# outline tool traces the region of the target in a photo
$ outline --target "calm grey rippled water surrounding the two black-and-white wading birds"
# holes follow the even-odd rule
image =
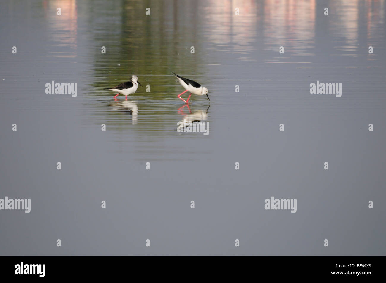
[[[31,211],[0,210],[0,255],[386,255],[385,9],[1,1],[0,198]],[[210,101],[185,105],[171,72]],[[142,87],[114,100],[131,75]],[[310,94],[317,81],[342,96]],[[207,136],[177,132],[194,115]],[[264,209],[272,196],[296,213]]]

